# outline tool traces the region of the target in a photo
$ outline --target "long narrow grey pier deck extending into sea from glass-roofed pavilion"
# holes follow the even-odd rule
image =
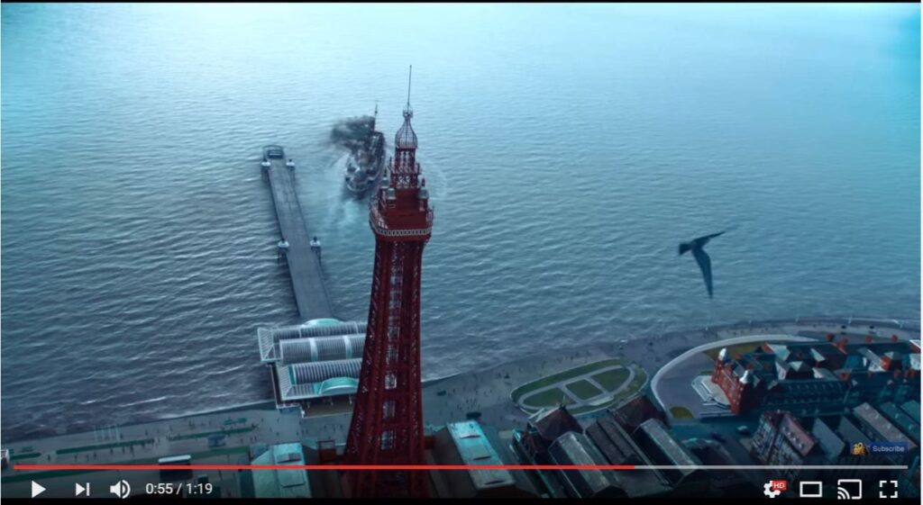
[[[333,317],[327,288],[320,272],[318,255],[311,251],[305,217],[294,191],[294,177],[285,166],[285,158],[269,159],[268,172],[272,201],[279,219],[279,231],[289,242],[287,262],[292,276],[298,313],[304,320]]]

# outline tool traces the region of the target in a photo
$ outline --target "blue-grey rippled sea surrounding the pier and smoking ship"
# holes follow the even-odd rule
[[[6,441],[267,399],[297,319],[260,147],[335,311],[374,239],[338,120],[414,65],[424,375],[798,315],[919,317],[920,6],[7,5]],[[677,243],[708,246],[709,299]]]

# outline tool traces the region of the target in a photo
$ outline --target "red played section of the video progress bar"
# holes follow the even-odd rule
[[[14,470],[634,470],[634,464],[14,464]]]

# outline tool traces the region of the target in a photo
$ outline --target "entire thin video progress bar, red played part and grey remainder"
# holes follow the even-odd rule
[[[906,464],[15,464],[14,470],[906,470]]]

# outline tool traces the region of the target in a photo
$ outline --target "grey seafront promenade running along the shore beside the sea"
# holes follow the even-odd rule
[[[844,327],[845,326],[845,327]],[[874,328],[869,328],[874,326]],[[799,318],[789,321],[737,323],[709,329],[693,329],[665,335],[652,335],[623,343],[624,335],[604,335],[595,346],[545,349],[543,352],[485,370],[426,382],[424,417],[426,426],[436,429],[446,422],[463,419],[469,412],[480,413],[484,424],[501,431],[523,426],[527,415],[509,397],[518,386],[562,370],[604,358],[623,358],[640,364],[650,377],[665,363],[690,348],[720,343],[747,335],[799,335],[822,338],[827,333],[859,338],[869,335],[897,335],[918,339],[919,323],[893,320],[848,318]],[[426,372],[426,367],[424,368]],[[303,440],[345,441],[350,413],[303,418],[297,413],[282,413],[272,402],[240,407],[233,411],[203,413],[119,427],[118,440],[99,440],[92,431],[23,440],[8,444],[13,464],[112,464],[156,463],[162,456],[191,454],[195,464],[247,464],[250,444]],[[586,419],[588,417],[584,417]],[[223,433],[225,444],[209,447],[209,435]],[[28,457],[18,458],[26,455]],[[222,487],[222,496],[237,496],[236,472],[206,471],[210,482]],[[29,496],[31,480],[48,488],[43,496],[73,496],[75,482],[107,490],[115,481],[126,478],[134,487],[156,482],[156,472],[75,472],[10,471],[3,481],[10,496]],[[152,480],[153,479],[153,480]],[[94,487],[95,489],[96,487]],[[105,496],[105,495],[102,495]]]

